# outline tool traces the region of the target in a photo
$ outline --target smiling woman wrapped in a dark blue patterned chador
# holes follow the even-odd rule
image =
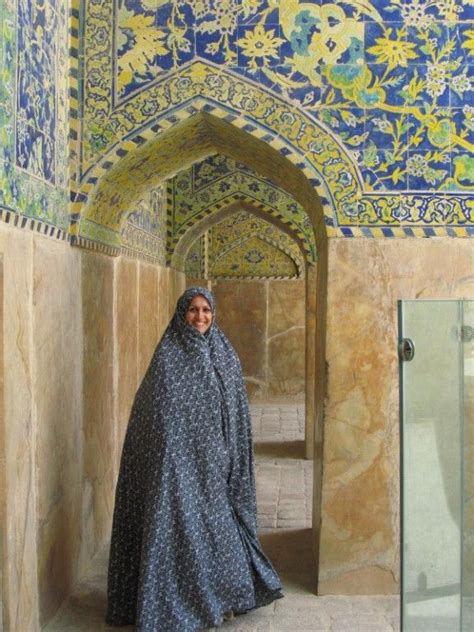
[[[282,596],[257,537],[252,436],[212,292],[186,290],[135,396],[116,490],[107,622],[196,632]]]

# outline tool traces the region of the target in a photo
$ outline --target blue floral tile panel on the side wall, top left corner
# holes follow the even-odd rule
[[[68,3],[4,2],[0,37],[0,209],[61,235],[68,216]],[[51,230],[49,230],[51,227]],[[34,228],[33,228],[34,227]]]

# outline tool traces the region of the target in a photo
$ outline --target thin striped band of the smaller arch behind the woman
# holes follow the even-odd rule
[[[222,220],[234,215],[237,211],[247,211],[256,217],[265,220],[266,222],[273,224],[283,233],[292,238],[292,240],[298,245],[300,252],[306,261],[313,261],[310,246],[304,238],[304,235],[296,230],[296,227],[286,223],[283,218],[277,213],[275,209],[266,207],[263,205],[257,205],[255,200],[251,198],[246,199],[242,196],[241,199],[231,201],[229,204],[221,206],[219,208],[209,207],[206,209],[205,214],[201,214],[201,217],[193,218],[193,223],[187,225],[185,232],[182,232],[177,241],[172,244],[169,252],[169,261],[173,268],[179,270],[184,269],[184,262],[188,252],[193,243],[207,230],[215,226]]]

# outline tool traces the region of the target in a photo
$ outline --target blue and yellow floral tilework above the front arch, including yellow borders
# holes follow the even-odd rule
[[[85,50],[85,180],[122,138],[201,97],[314,165],[329,234],[466,234],[471,4],[89,2],[86,41],[101,45]]]

